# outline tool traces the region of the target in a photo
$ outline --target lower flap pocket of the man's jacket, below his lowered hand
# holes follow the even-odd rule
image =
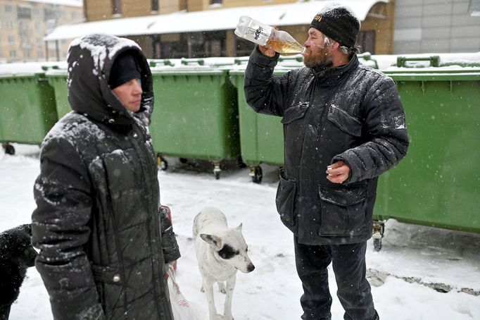
[[[365,233],[367,187],[320,186],[320,235],[354,236]]]

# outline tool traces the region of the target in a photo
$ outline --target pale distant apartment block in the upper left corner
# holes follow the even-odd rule
[[[80,1],[0,0],[0,61],[47,61],[66,56],[68,41],[46,50],[46,33],[83,19]]]

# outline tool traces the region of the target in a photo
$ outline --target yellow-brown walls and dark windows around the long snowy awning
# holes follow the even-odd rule
[[[84,11],[87,22],[95,22],[163,15],[177,11],[222,11],[222,9],[246,6],[293,5],[295,2],[294,0],[110,0],[103,3],[97,0],[84,0]],[[319,3],[315,10],[320,11],[323,5]],[[308,16],[308,19],[315,16],[317,11],[306,13],[311,16]],[[378,1],[370,8],[365,20],[362,20],[362,29],[358,40],[362,52],[393,53],[394,11],[393,1]],[[248,9],[245,14],[248,14]],[[298,39],[298,42],[303,43],[307,37],[308,25],[280,27]],[[124,36],[138,42],[146,55],[155,59],[246,56],[251,53],[254,46],[251,42],[236,37],[232,29]]]

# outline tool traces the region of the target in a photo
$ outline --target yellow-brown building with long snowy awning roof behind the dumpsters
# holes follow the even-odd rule
[[[358,11],[362,51],[393,53],[395,2],[336,0]],[[70,42],[89,32],[133,39],[148,58],[246,56],[253,44],[234,35],[242,15],[276,25],[303,43],[308,26],[331,1],[295,0],[84,0],[85,23],[64,25],[46,39]]]

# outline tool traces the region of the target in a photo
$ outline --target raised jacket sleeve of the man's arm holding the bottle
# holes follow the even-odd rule
[[[249,106],[258,113],[283,116],[288,74],[274,77],[279,54],[272,58],[253,49],[245,70],[244,91]]]

